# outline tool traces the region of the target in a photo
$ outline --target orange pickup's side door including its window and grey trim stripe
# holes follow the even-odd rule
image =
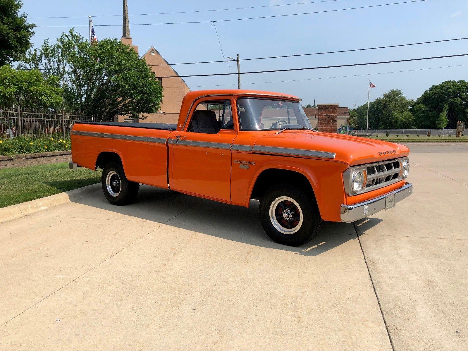
[[[205,99],[190,114],[186,130],[171,139],[171,188],[231,201],[231,145],[237,135],[231,99]]]

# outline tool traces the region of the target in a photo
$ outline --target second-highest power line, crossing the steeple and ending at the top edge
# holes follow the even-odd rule
[[[327,12],[337,12],[337,11],[347,11],[347,10],[357,10],[361,8],[371,8],[371,7],[382,7],[382,6],[390,6],[390,5],[401,5],[401,4],[409,4],[412,2],[423,2],[429,0],[411,0],[411,1],[403,1],[403,2],[392,2],[388,4],[380,4],[380,5],[369,5],[369,6],[360,6],[360,7],[348,7],[348,8],[338,8],[336,10],[323,10],[323,11],[314,11],[314,12],[303,12],[299,14],[288,14],[288,15],[271,15],[271,16],[261,16],[261,17],[245,17],[245,18],[233,18],[230,20],[212,20],[212,21],[189,21],[189,22],[165,22],[165,23],[134,23],[131,26],[153,26],[153,25],[162,25],[162,24],[193,24],[193,23],[211,23],[211,22],[232,22],[232,21],[245,21],[245,20],[256,20],[256,19],[263,19],[263,18],[276,18],[276,17],[288,17],[288,16],[298,16],[298,15],[312,15],[312,14],[322,14]],[[122,24],[96,24],[95,27],[115,27],[121,26]],[[88,25],[47,25],[47,26],[36,26],[38,27],[88,27]]]

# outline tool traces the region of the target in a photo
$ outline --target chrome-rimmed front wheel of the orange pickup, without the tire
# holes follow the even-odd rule
[[[277,197],[270,205],[270,220],[279,232],[294,234],[302,226],[302,210],[291,197]]]

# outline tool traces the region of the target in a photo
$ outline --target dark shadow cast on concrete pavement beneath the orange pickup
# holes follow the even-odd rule
[[[137,201],[132,205],[110,205],[100,189],[96,189],[93,195],[74,199],[73,202],[94,207],[94,215],[99,215],[100,218],[109,217],[109,212],[120,213],[122,219],[131,216],[226,240],[290,251],[302,256],[317,256],[347,241],[357,240],[352,223],[324,222],[319,234],[307,244],[295,248],[280,245],[271,241],[263,231],[258,218],[259,203],[255,200],[250,202],[249,208],[244,208],[176,191],[140,186]]]

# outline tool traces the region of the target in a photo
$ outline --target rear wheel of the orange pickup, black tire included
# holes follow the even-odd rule
[[[117,162],[109,162],[105,165],[101,185],[104,196],[112,205],[131,204],[138,195],[138,183],[130,182],[125,176],[124,168]]]

